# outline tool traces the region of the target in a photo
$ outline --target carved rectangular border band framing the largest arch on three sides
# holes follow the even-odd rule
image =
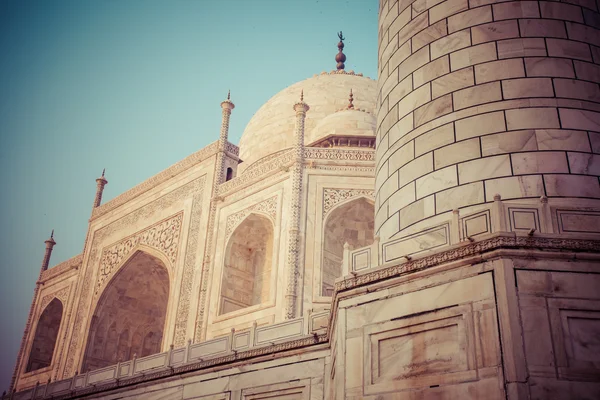
[[[75,312],[74,316],[71,339],[67,350],[68,355],[63,369],[63,377],[71,377],[73,375],[76,362],[75,357],[78,357],[80,355],[79,352],[83,349],[83,345],[85,342],[84,336],[86,332],[84,332],[84,329],[89,318],[88,310],[90,307],[94,285],[94,283],[92,282],[92,277],[94,276],[95,268],[97,268],[97,266],[100,264],[101,259],[101,252],[99,249],[100,245],[104,242],[106,238],[110,237],[115,232],[119,232],[124,227],[130,226],[138,220],[147,219],[151,217],[157,210],[166,209],[174,203],[181,201],[182,199],[193,196],[194,204],[192,205],[192,215],[190,216],[192,223],[190,224],[190,231],[188,234],[187,249],[187,252],[191,255],[189,257],[186,257],[184,264],[182,276],[182,290],[180,293],[177,308],[177,320],[175,322],[176,326],[179,327],[179,329],[176,329],[176,339],[179,340],[180,337],[185,337],[185,327],[187,326],[188,314],[186,314],[184,310],[186,310],[186,308],[189,308],[189,297],[191,290],[186,290],[184,286],[191,285],[191,282],[193,282],[194,267],[196,265],[196,252],[191,251],[191,248],[189,246],[190,244],[194,244],[194,246],[197,246],[196,242],[199,238],[198,228],[197,226],[194,227],[193,221],[198,220],[200,218],[199,214],[202,212],[202,207],[199,203],[202,199],[205,180],[206,176],[203,175],[202,177],[184,186],[181,186],[165,194],[162,197],[159,197],[153,202],[132,211],[124,217],[98,229],[97,231],[91,234],[91,246],[89,256],[86,260],[86,268],[85,271],[81,271],[81,273],[83,274],[83,278],[81,283],[81,290],[78,295],[79,304],[77,305],[77,311]],[[102,207],[103,206],[98,207],[96,210]]]

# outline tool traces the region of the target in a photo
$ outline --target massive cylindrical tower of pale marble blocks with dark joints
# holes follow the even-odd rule
[[[547,196],[598,206],[594,0],[381,0],[376,234]]]

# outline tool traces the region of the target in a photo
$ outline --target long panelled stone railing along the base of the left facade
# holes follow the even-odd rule
[[[319,338],[318,342],[326,340],[323,334],[327,331],[329,310],[309,313],[301,318],[292,319],[278,324],[257,326],[236,332],[235,329],[226,336],[207,340],[201,343],[191,343],[181,348],[169,349],[164,353],[120,362],[105,368],[75,375],[61,381],[38,384],[32,388],[3,395],[2,400],[33,400],[46,398],[69,398],[80,395],[104,385],[119,386],[138,382],[140,378],[151,378],[150,374],[168,376],[177,373],[178,367],[205,363],[217,365],[246,359],[268,353],[288,350],[306,345],[308,340]],[[319,336],[321,335],[321,336]],[[307,339],[307,341],[302,341]],[[201,369],[202,365],[198,366]],[[193,370],[195,368],[189,368]],[[132,382],[128,382],[131,380]]]

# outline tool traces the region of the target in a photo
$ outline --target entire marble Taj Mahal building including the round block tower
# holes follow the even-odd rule
[[[380,0],[377,79],[339,32],[239,144],[234,91],[205,148],[103,172],[2,399],[600,398],[598,10]]]

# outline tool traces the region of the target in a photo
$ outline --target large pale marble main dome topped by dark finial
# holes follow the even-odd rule
[[[366,112],[339,111],[348,106],[350,89],[354,94],[354,107]],[[263,157],[293,146],[296,121],[294,104],[300,100],[302,90],[304,101],[310,107],[304,126],[304,144],[309,145],[330,136],[332,133],[327,127],[333,125],[337,127],[338,134],[357,135],[359,130],[362,131],[358,135],[375,134],[373,115],[377,102],[377,82],[352,71],[322,73],[283,89],[254,114],[240,139],[240,158],[243,163],[238,167],[238,173],[243,173]],[[333,114],[338,115],[326,123],[326,117]],[[352,128],[347,132],[342,132],[343,128],[339,127],[339,117],[343,116],[350,118],[347,125]],[[322,121],[324,125],[317,128]]]

